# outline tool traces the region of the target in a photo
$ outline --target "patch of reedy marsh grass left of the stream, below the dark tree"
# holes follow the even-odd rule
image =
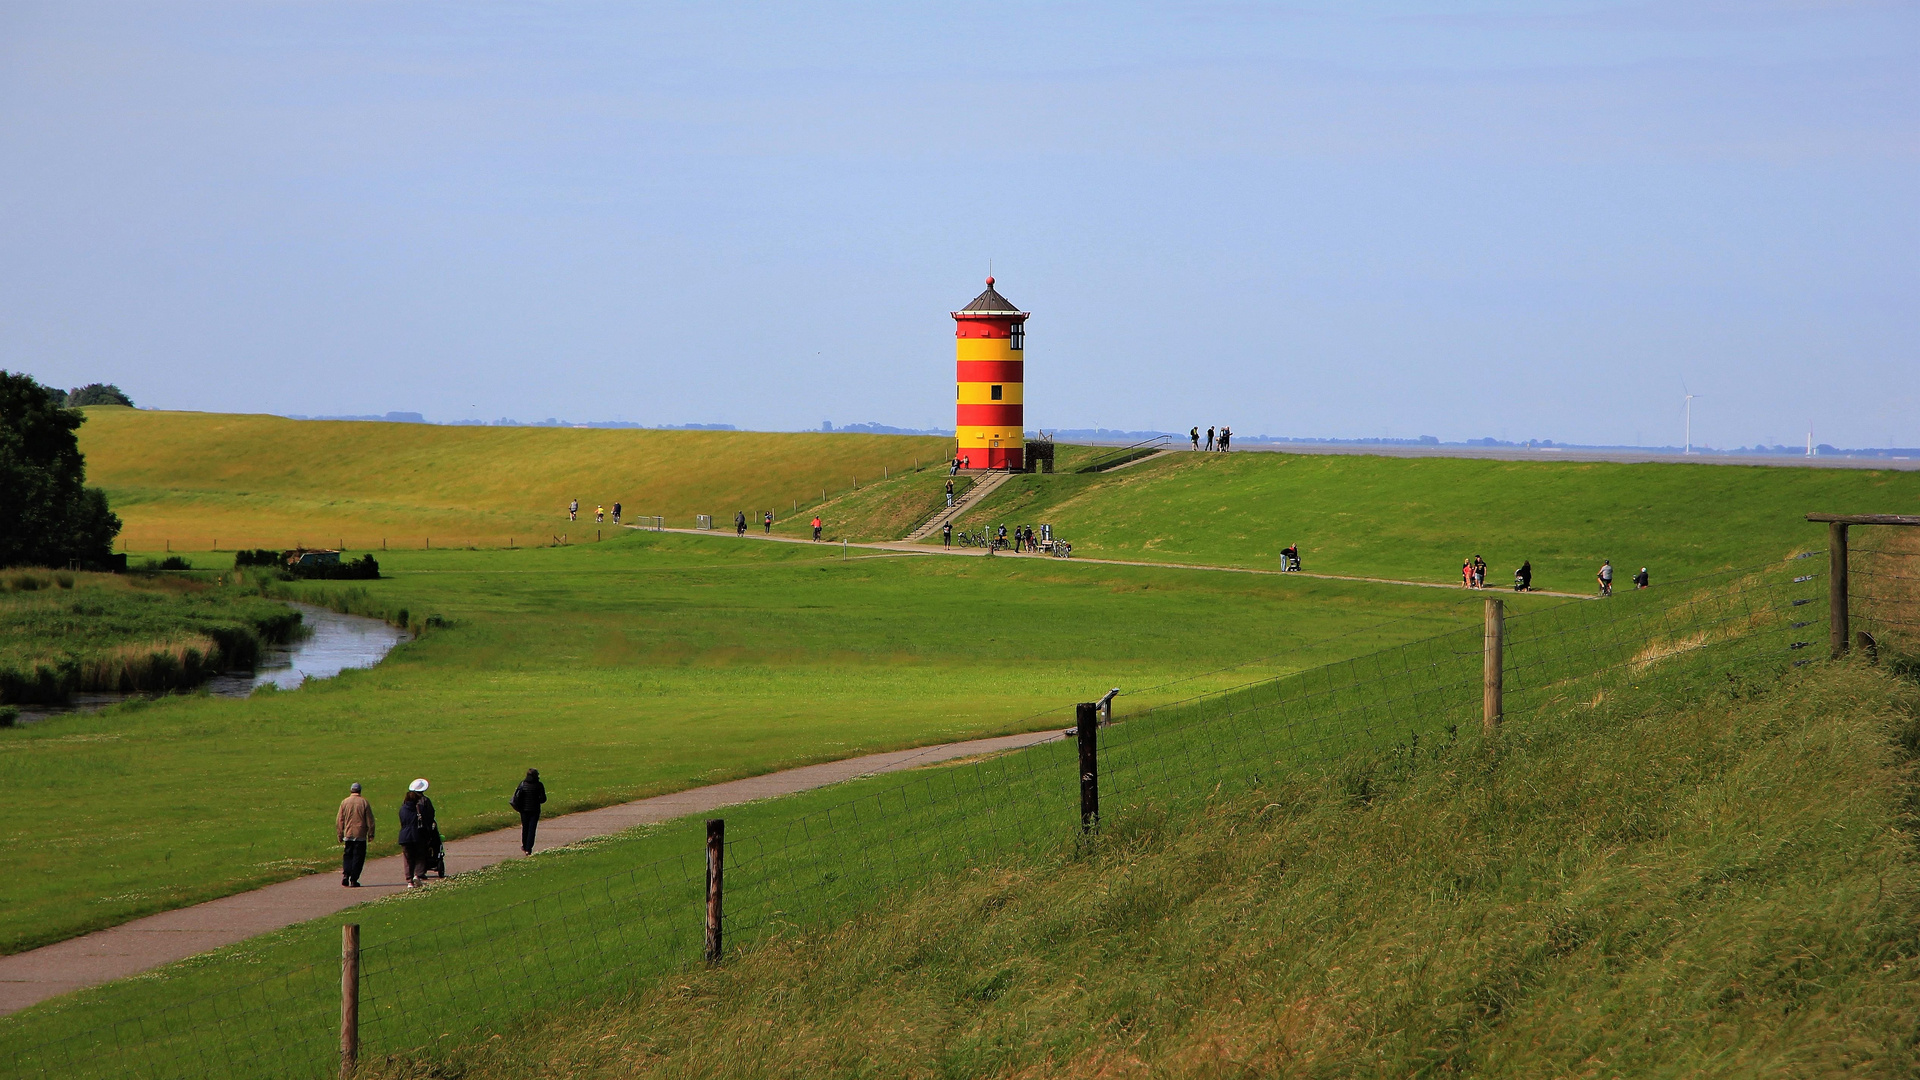
[[[205,580],[157,575],[0,575],[0,705],[77,690],[171,690],[252,667],[300,615]]]

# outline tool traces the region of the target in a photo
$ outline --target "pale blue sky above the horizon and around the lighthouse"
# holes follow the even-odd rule
[[[1912,4],[0,2],[0,367],[179,409],[1920,444]]]

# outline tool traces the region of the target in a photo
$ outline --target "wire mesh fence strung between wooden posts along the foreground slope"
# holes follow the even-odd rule
[[[1507,715],[1594,700],[1655,669],[1720,678],[1826,655],[1824,559],[1814,555],[1503,619]],[[1878,550],[1860,557],[1868,567],[1912,565],[1908,555],[1868,561],[1885,557]],[[1897,580],[1874,573],[1859,580]],[[1876,626],[1914,619],[1912,592],[1860,588],[1882,605]],[[1674,663],[1690,655],[1713,663]],[[1106,822],[1346,753],[1478,728],[1484,657],[1486,630],[1475,625],[1119,717],[1098,734]],[[737,947],[833,926],[1004,855],[1069,849],[1083,842],[1079,799],[1079,753],[1062,738],[732,807],[724,938]],[[432,897],[447,901],[438,917],[371,932],[359,953],[363,1061],[451,1057],[486,1032],[701,963],[707,863],[693,824],[609,844],[628,865],[557,890],[490,894],[484,880],[455,878],[449,896]],[[311,938],[303,961],[284,972],[186,1003],[33,1045],[0,1026],[0,1061],[12,1061],[8,1076],[334,1074],[340,965],[324,934]]]

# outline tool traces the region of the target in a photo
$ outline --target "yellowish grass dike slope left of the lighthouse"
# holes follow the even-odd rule
[[[879,434],[436,427],[86,409],[86,479],[134,552],[507,546],[593,538],[593,507],[691,527],[804,511],[948,440]],[[580,500],[580,521],[566,502]]]

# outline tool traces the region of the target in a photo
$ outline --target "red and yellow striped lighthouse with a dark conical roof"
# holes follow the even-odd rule
[[[993,290],[954,315],[954,436],[972,469],[1025,467],[1025,348],[1027,311]]]

